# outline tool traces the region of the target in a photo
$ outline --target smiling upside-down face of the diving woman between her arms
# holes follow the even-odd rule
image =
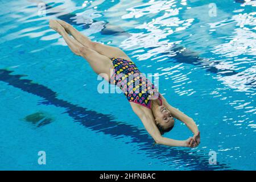
[[[156,124],[160,124],[164,129],[167,129],[174,125],[174,118],[171,112],[164,106],[159,106],[155,112]]]

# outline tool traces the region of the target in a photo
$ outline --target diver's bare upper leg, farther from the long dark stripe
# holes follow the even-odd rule
[[[88,46],[89,48],[93,49],[94,51],[97,51],[101,55],[105,55],[109,58],[111,57],[122,57],[124,59],[129,59],[129,57],[126,55],[125,52],[123,52],[118,47],[113,46],[106,46],[101,43],[92,42],[88,37],[81,34],[81,32],[77,31],[74,27],[71,26],[71,24],[64,22],[63,20],[57,20],[65,28],[65,31],[67,31],[69,34],[73,36],[78,42],[80,42],[84,46]]]

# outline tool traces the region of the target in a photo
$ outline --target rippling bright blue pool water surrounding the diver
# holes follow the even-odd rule
[[[256,1],[44,2],[45,16],[35,0],[0,1],[0,169],[255,170]],[[160,92],[199,126],[200,146],[153,146],[126,98],[97,92],[101,80],[49,19],[158,73]],[[181,122],[165,134],[191,135]]]

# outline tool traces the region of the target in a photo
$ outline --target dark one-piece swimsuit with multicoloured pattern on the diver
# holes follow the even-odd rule
[[[110,84],[117,85],[125,94],[129,102],[134,102],[151,109],[151,100],[158,98],[160,93],[142,73],[133,61],[112,57],[114,72],[110,77]]]

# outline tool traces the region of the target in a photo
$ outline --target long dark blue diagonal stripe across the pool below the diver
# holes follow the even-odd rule
[[[179,160],[182,161],[182,164],[184,165],[189,164],[189,166],[187,166],[188,169],[230,169],[227,164],[210,166],[208,163],[208,155],[190,155],[190,149],[178,150],[175,147],[166,146],[153,147],[152,138],[150,138],[146,131],[139,130],[137,126],[129,125],[125,122],[114,121],[113,115],[97,113],[96,111],[88,110],[85,107],[73,105],[68,101],[61,100],[57,98],[56,92],[46,86],[36,84],[32,80],[22,79],[22,77],[26,75],[11,75],[11,73],[13,73],[13,71],[0,69],[0,81],[6,82],[24,92],[44,98],[44,100],[41,101],[42,104],[65,108],[65,113],[72,117],[75,122],[80,122],[81,125],[96,131],[96,133],[101,132],[110,135],[115,139],[123,137],[131,138],[131,141],[126,143],[137,143],[138,150],[144,151],[150,158],[159,159],[161,162],[168,162],[172,166],[175,165],[175,163],[172,162],[173,160]],[[36,117],[38,117],[38,115],[36,115]]]

